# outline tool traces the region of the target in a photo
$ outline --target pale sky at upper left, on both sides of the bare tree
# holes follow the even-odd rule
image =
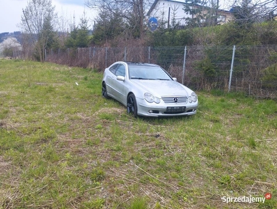
[[[0,33],[21,31],[18,24],[27,2],[28,0],[0,0]],[[63,16],[69,24],[73,22],[73,17],[78,24],[85,10],[86,18],[91,20],[89,24],[92,29],[95,12],[84,6],[84,2],[85,0],[52,0],[52,6],[55,6],[58,16]]]

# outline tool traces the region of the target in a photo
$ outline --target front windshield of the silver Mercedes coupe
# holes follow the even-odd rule
[[[159,66],[129,65],[129,79],[172,80]]]

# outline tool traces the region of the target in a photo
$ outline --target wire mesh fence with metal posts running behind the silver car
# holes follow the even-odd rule
[[[100,71],[116,61],[156,63],[196,90],[277,96],[276,45],[49,49],[45,60]]]

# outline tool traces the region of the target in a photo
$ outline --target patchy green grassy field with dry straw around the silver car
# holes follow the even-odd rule
[[[133,118],[101,79],[0,60],[1,208],[277,208],[276,101],[198,92],[195,116]]]

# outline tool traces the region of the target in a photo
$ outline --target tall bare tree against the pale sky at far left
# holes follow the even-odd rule
[[[57,14],[52,0],[29,0],[21,17],[24,33],[30,33],[40,61],[44,61],[47,42],[54,31]]]

